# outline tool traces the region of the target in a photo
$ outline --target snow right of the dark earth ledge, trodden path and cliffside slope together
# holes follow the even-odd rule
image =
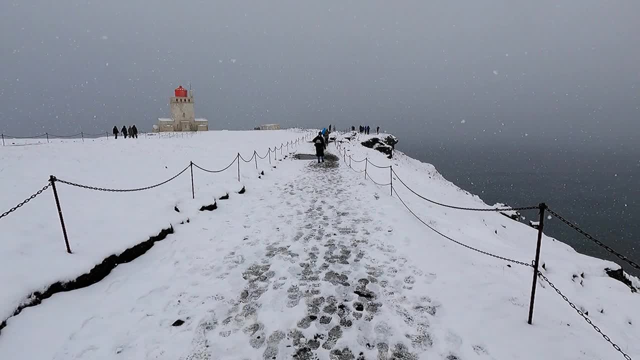
[[[305,144],[299,152],[312,151]],[[359,145],[349,152],[380,165],[393,161],[406,181],[422,184],[420,192],[486,206],[401,153],[389,161]],[[190,222],[106,279],[10,318],[0,358],[621,358],[542,283],[534,325],[527,325],[531,268],[444,240],[390,197],[388,186],[340,161],[291,154],[273,161],[277,168],[264,165],[266,175],[255,176],[243,195],[218,200],[214,211],[192,211],[208,204],[202,195],[182,203]],[[369,175],[387,182],[388,169]],[[450,236],[518,260],[532,254],[535,231],[524,224],[427,206],[398,192]],[[615,265],[546,236],[543,249],[545,274],[623,350],[640,355],[637,294],[602,274]]]

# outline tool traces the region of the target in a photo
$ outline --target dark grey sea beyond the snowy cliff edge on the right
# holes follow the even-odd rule
[[[399,140],[397,149],[435,165],[445,179],[479,195],[487,204],[503,202],[516,207],[546,202],[596,239],[640,263],[640,152],[635,145],[560,142],[543,148],[531,143],[445,146],[412,141],[411,136]],[[538,220],[537,211],[522,215],[526,217],[523,222]],[[545,218],[545,234],[582,254],[615,261],[630,274],[640,276],[557,218]]]

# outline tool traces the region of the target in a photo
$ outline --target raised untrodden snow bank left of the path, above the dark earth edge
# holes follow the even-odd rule
[[[303,131],[210,131],[184,138],[157,135],[138,139],[12,140],[25,146],[0,148],[2,211],[47,184],[50,175],[73,183],[104,188],[140,188],[175,176],[193,161],[200,167],[227,167],[236,154],[250,159],[253,150],[293,142]],[[44,140],[46,142],[46,140]],[[286,154],[286,147],[283,154]],[[291,148],[290,148],[291,149]],[[272,155],[273,156],[273,155]],[[278,151],[277,156],[280,156]],[[66,253],[51,189],[0,219],[0,322],[22,300],[56,281],[88,272],[110,254],[140,243],[196,213],[202,205],[257,180],[255,163],[219,174],[194,168],[196,200],[191,199],[189,170],[168,184],[142,192],[96,192],[57,184],[70,247]],[[260,171],[271,169],[259,160]],[[177,206],[180,213],[174,211]],[[194,210],[195,209],[195,210]]]

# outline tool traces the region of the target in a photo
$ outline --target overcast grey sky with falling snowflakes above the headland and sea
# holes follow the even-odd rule
[[[632,0],[3,4],[0,131],[149,129],[191,81],[211,129],[629,139],[638,14]]]

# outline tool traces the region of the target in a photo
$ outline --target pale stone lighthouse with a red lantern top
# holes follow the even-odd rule
[[[207,131],[209,121],[196,119],[193,92],[178,86],[169,97],[170,119],[158,119],[159,131]]]

